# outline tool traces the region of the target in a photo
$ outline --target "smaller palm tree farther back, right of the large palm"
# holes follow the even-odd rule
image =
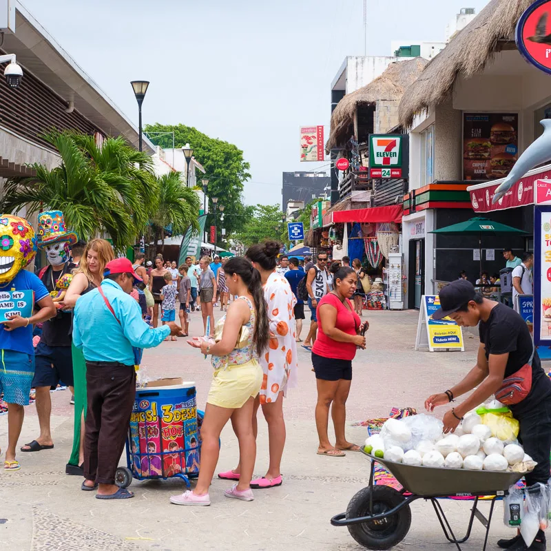
[[[154,257],[159,239],[165,247],[165,228],[171,227],[175,236],[184,235],[187,229],[199,231],[198,212],[200,201],[196,192],[182,182],[180,172],[163,174],[157,178],[158,206],[152,216],[153,247],[150,256]]]

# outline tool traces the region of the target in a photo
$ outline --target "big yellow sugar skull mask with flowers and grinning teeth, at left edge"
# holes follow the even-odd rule
[[[34,229],[24,218],[0,218],[0,283],[10,282],[37,254]]]

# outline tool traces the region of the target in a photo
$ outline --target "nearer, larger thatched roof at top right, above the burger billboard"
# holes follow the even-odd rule
[[[514,28],[532,1],[491,0],[408,87],[399,105],[400,124],[409,128],[415,114],[446,101],[459,75],[469,79],[484,70],[503,41],[514,40]]]

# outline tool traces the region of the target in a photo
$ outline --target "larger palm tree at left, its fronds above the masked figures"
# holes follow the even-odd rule
[[[101,149],[92,148],[92,136],[52,130],[44,138],[59,151],[61,164],[50,170],[35,163],[37,176],[8,180],[2,211],[61,210],[83,240],[108,233],[117,251],[133,245],[158,204],[147,156],[121,138],[106,138]]]

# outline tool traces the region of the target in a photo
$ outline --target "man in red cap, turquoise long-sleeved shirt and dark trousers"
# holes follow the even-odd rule
[[[98,499],[127,499],[115,486],[136,394],[136,349],[158,346],[181,331],[174,322],[152,329],[130,295],[141,282],[127,258],[108,262],[98,289],[83,295],[74,309],[73,342],[86,360],[88,415],[85,422],[82,490],[98,488]]]

